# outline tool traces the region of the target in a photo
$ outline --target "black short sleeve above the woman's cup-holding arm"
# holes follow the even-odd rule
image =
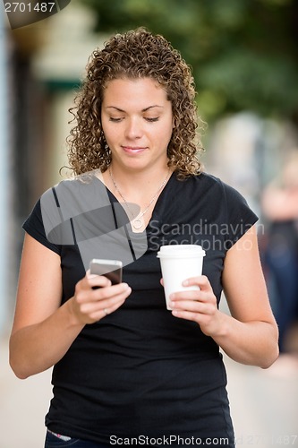
[[[259,220],[247,201],[232,186],[222,183],[225,192],[227,228],[226,248],[229,249]]]

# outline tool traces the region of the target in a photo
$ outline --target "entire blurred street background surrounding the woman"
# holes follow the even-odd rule
[[[297,23],[295,0],[72,0],[11,30],[0,4],[0,448],[43,445],[51,395],[50,372],[21,382],[7,362],[21,224],[67,175],[59,168],[67,164],[68,109],[89,55],[115,31],[138,26],[163,34],[192,65],[207,123],[205,168],[260,216],[282,356],[268,371],[226,359],[238,446],[298,446]]]

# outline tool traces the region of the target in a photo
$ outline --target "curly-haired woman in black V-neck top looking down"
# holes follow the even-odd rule
[[[10,342],[20,378],[54,366],[47,448],[234,447],[219,348],[263,368],[277,358],[257,217],[233,188],[201,172],[194,96],[180,54],[147,30],[115,35],[89,61],[69,154],[74,173],[88,175],[43,195],[24,224]],[[106,219],[105,194],[113,213],[122,203],[130,221],[100,229],[106,246],[85,231]],[[69,232],[53,237],[58,216]],[[113,238],[122,228],[127,239],[123,230],[117,241],[128,242],[134,257],[124,261],[124,281],[111,285],[91,276],[88,262],[117,258]],[[204,275],[186,280],[200,289],[175,293],[170,312],[157,252],[185,243],[206,250]],[[218,310],[222,289],[231,316]]]

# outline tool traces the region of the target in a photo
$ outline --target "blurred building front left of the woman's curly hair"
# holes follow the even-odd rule
[[[0,335],[10,331],[22,222],[61,180],[74,90],[102,38],[75,0],[62,12],[11,30],[0,7]]]

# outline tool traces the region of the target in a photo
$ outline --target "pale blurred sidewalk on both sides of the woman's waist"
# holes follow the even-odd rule
[[[42,448],[51,373],[17,379],[8,366],[7,340],[0,340],[0,363],[0,448]],[[298,447],[298,370],[273,375],[227,358],[226,368],[237,447]]]

